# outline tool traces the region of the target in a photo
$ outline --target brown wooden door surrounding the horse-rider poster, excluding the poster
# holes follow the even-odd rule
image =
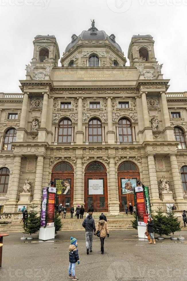
[[[124,170],[125,169],[125,170]],[[130,170],[131,169],[131,170]],[[139,179],[140,174],[137,166],[131,162],[123,162],[118,167],[118,193],[120,201],[120,212],[125,212],[125,204],[130,206],[135,205],[134,203],[134,193],[123,194],[122,192],[122,179]]]

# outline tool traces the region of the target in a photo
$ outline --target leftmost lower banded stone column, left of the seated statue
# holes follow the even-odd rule
[[[20,171],[21,171],[21,161],[22,156],[17,155],[14,157],[14,167],[12,172],[12,181],[10,186],[10,194],[9,194],[9,200],[7,201],[10,204],[16,204],[17,203],[17,195],[18,195],[18,188],[19,188],[19,181],[20,181]]]

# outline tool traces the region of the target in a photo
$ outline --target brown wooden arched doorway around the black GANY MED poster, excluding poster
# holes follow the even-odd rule
[[[54,166],[52,170],[51,179],[54,181],[54,187],[56,186],[57,179],[63,179],[65,183],[69,183],[69,190],[66,194],[57,194],[58,204],[66,205],[67,210],[73,205],[73,183],[74,183],[74,170],[70,163],[60,162]]]

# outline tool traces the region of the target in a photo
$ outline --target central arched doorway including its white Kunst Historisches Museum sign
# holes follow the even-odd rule
[[[92,203],[94,212],[108,212],[106,167],[97,161],[89,163],[84,176],[85,209]]]

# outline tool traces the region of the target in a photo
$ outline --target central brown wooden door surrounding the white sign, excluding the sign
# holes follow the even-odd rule
[[[102,169],[96,171],[94,169]],[[84,180],[85,210],[87,211],[92,203],[94,212],[108,212],[108,190],[106,168],[99,162],[92,162],[86,167]],[[103,194],[89,194],[89,180],[100,179],[103,182]]]

